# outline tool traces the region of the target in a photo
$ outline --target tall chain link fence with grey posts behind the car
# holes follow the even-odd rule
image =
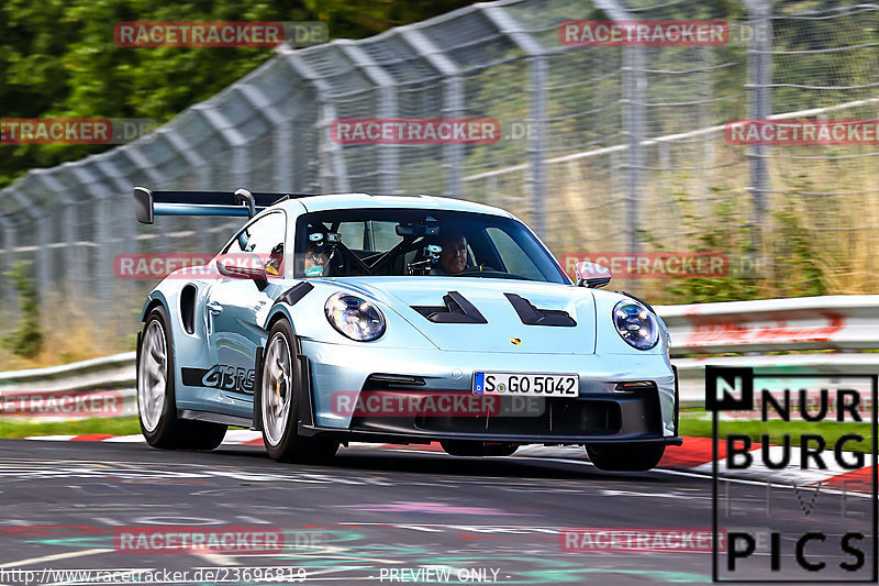
[[[565,21],[608,19],[723,20],[730,35],[717,46],[559,41]],[[363,41],[279,48],[148,136],[30,172],[0,191],[0,269],[30,261],[44,307],[77,308],[108,331],[131,331],[154,283],[116,278],[118,254],[213,252],[238,225],[140,225],[132,188],[246,187],[465,198],[512,211],[559,255],[754,253],[774,259],[764,277],[869,290],[879,147],[736,146],[723,125],[879,119],[877,88],[879,4],[479,3]],[[492,118],[502,132],[479,145],[331,140],[334,120],[376,117]],[[15,308],[3,279],[0,311]]]

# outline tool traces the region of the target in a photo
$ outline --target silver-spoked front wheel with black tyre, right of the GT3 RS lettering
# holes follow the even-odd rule
[[[299,345],[286,320],[271,328],[263,360],[259,409],[263,416],[263,443],[268,455],[279,462],[324,462],[338,451],[338,442],[299,435],[297,398],[302,388],[296,367]]]

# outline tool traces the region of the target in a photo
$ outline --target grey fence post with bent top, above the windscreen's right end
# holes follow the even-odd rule
[[[531,225],[538,236],[546,236],[546,49],[499,5],[477,4],[498,31],[527,56],[528,117],[535,131],[528,133],[528,186],[531,187]]]

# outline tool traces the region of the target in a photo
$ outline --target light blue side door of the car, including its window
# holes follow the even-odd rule
[[[268,311],[283,287],[287,217],[272,211],[245,226],[224,251],[227,258],[247,266],[266,265],[266,283],[218,275],[208,292],[205,310],[211,323],[210,345],[214,356],[214,383],[227,399],[252,400],[256,378],[256,349],[265,345]],[[232,401],[230,405],[235,405]]]

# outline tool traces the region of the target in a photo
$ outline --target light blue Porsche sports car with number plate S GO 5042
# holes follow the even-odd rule
[[[351,441],[453,455],[585,445],[648,469],[679,445],[677,377],[653,309],[572,283],[514,215],[429,196],[134,190],[137,219],[247,219],[147,296],[137,405],[149,445],[211,450],[229,425],[271,457]]]

